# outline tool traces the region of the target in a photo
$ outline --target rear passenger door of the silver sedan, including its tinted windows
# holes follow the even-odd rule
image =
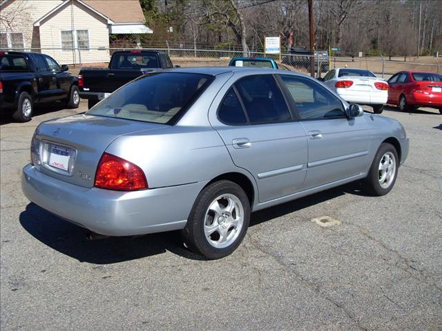
[[[233,86],[226,84],[219,95],[211,124],[233,163],[256,180],[258,200],[300,190],[307,172],[307,138],[273,75],[242,77]]]

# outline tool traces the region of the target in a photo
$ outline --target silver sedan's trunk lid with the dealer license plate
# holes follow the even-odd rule
[[[99,159],[112,141],[124,134],[167,127],[87,114],[44,122],[35,134],[41,142],[38,168],[50,177],[92,188]]]

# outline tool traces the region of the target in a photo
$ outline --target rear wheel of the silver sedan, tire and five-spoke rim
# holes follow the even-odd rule
[[[244,190],[231,181],[216,181],[198,195],[182,239],[207,259],[231,254],[249,228],[250,202]]]

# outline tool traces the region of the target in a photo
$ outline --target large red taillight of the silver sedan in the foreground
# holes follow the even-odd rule
[[[94,185],[97,188],[118,191],[146,190],[148,188],[146,177],[140,167],[106,152],[99,160]]]

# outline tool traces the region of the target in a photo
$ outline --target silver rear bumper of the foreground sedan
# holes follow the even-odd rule
[[[23,168],[21,188],[41,208],[88,230],[128,236],[179,230],[206,182],[133,192],[83,188]]]

